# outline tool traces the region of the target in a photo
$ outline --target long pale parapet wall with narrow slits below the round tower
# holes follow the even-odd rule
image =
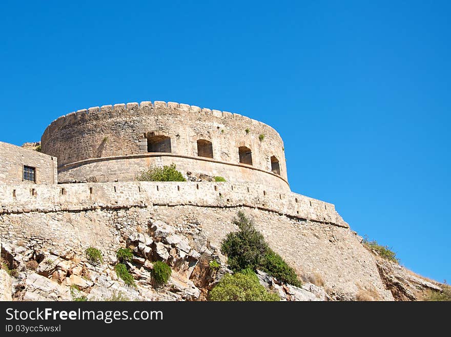
[[[80,211],[155,205],[247,206],[299,219],[348,227],[333,204],[261,185],[208,182],[121,182],[36,186],[0,185],[0,213]]]

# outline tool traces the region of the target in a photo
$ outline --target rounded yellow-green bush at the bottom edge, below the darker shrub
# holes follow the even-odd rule
[[[227,274],[210,291],[210,301],[279,301],[279,295],[267,291],[257,275],[245,269],[233,275]]]

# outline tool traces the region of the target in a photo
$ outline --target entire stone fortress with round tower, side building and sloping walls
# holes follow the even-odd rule
[[[57,118],[40,146],[0,142],[3,242],[65,251],[95,244],[111,256],[123,242],[118,222],[139,226],[152,216],[199,224],[219,245],[242,209],[299,275],[320,273],[343,299],[370,288],[393,299],[335,206],[290,190],[282,138],[268,125],[172,102],[116,104]],[[172,163],[187,182],[135,179]]]

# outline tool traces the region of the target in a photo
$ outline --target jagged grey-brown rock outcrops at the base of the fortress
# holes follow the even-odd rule
[[[103,262],[90,261],[82,251],[41,250],[38,240],[3,244],[3,269],[0,298],[15,301],[203,301],[221,276],[231,273],[220,262],[213,246],[198,227],[180,231],[159,220],[150,220],[147,228],[138,227],[126,235],[124,245],[133,252],[125,262],[134,286],[127,285],[115,272],[115,255],[103,256]],[[119,240],[119,238],[118,238]],[[211,267],[210,261],[219,267]],[[155,261],[172,269],[165,285],[156,285],[152,277]],[[11,276],[6,272],[8,271]],[[258,271],[260,283],[276,292],[284,301],[326,301],[330,296],[311,283],[302,288],[282,284]]]

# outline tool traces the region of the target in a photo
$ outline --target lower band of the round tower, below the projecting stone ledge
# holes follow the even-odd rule
[[[134,181],[137,173],[151,165],[176,164],[177,170],[188,178],[209,172],[211,176],[222,176],[234,183],[254,183],[289,191],[290,186],[280,175],[243,164],[219,162],[211,158],[180,156],[173,153],[145,153],[121,157],[107,157],[67,164],[59,168],[58,181],[111,182]]]

